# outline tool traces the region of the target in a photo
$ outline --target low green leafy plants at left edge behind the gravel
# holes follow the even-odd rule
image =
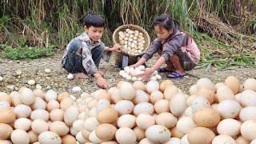
[[[49,57],[54,55],[56,46],[48,46],[38,48],[38,46],[18,46],[12,47],[7,44],[0,45],[0,58],[9,58],[9,59],[24,59],[24,58],[41,58]]]

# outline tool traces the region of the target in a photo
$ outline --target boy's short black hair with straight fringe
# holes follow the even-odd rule
[[[99,14],[90,13],[86,15],[83,25],[87,28],[89,28],[90,26],[105,28],[105,20]]]

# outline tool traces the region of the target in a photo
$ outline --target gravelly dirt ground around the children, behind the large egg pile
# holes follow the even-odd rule
[[[42,90],[56,90],[58,93],[62,91],[71,91],[74,86],[80,86],[83,92],[93,92],[98,90],[94,78],[90,79],[79,79],[74,78],[68,80],[66,78],[67,72],[62,69],[61,63],[62,54],[55,54],[52,58],[38,58],[34,60],[26,59],[20,61],[11,61],[8,59],[0,59],[0,75],[3,77],[3,81],[0,82],[0,92],[10,93],[13,90],[18,90],[22,86],[30,87],[32,90],[36,88],[36,85],[42,86]],[[152,66],[156,58],[151,59],[147,62],[147,66]],[[49,68],[50,74],[46,74],[44,70]],[[197,68],[197,67],[196,67]],[[22,74],[15,76],[15,72],[21,70]],[[101,62],[100,70],[104,72],[104,77],[110,86],[116,86],[116,83],[122,78],[118,75],[120,70],[114,64],[114,58],[112,57],[110,62]],[[195,69],[190,70],[189,74],[193,74],[198,78],[210,78],[214,83],[224,82],[225,78],[234,75],[238,77],[242,82],[246,78],[255,78],[256,73],[253,68],[239,68],[235,70],[217,71],[214,68],[207,69]],[[188,76],[186,78],[180,78],[178,80],[172,80],[175,86],[180,89],[189,90],[190,86],[197,82],[198,78]],[[33,79],[36,84],[29,86],[27,81]],[[166,75],[162,74],[162,80],[166,79]],[[162,81],[161,80],[161,81]],[[160,81],[160,82],[161,82]]]

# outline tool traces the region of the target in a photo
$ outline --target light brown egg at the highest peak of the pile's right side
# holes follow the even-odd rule
[[[224,83],[226,86],[230,87],[234,94],[238,94],[240,88],[240,82],[238,78],[235,76],[229,76],[225,79]]]

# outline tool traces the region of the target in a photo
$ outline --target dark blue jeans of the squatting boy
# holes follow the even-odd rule
[[[91,50],[92,58],[94,60],[94,64],[99,66],[99,62],[101,62],[102,52],[105,49],[104,44],[102,43],[99,46],[94,47]],[[69,73],[85,73],[86,70],[82,66],[82,43],[79,40],[74,40],[70,42],[70,48],[66,54],[66,62],[63,66]]]

